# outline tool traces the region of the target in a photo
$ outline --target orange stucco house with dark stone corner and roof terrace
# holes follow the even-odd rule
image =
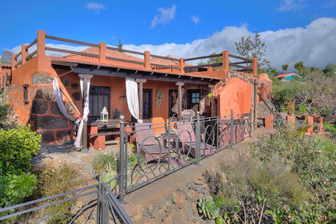
[[[46,41],[50,39],[87,45],[87,49],[79,52],[50,48],[46,46]],[[46,52],[50,51],[65,55],[48,56]],[[222,57],[222,63],[201,66],[188,64],[193,60],[218,56]],[[243,61],[229,63],[229,58]],[[241,65],[246,63],[251,63],[251,67]],[[218,66],[222,69],[212,69]],[[229,70],[229,66],[237,69]],[[103,42],[75,41],[38,31],[37,38],[31,44],[22,45],[21,52],[12,55],[8,102],[20,122],[30,123],[42,135],[44,142],[69,143],[75,139],[76,128],[73,121],[60,113],[51,83],[54,77],[58,77],[62,100],[74,119],[81,119],[83,111],[80,78],[83,78],[83,89],[90,80],[88,122],[100,119],[102,107],[108,109],[111,119],[122,114],[125,120],[131,121],[125,96],[125,78],[135,78],[139,88],[139,118],[155,124],[171,119],[174,94],[177,95],[176,100],[181,102],[181,110],[197,110],[203,115],[227,115],[224,113],[231,109],[235,113],[248,113],[250,109],[255,111],[256,66],[256,59],[245,59],[228,51],[218,55],[176,59],[170,55],[163,57],[149,51],[118,49]],[[182,88],[186,92],[183,98],[180,97]],[[164,95],[161,104],[156,107],[158,90]],[[208,99],[210,92],[213,96]],[[209,101],[211,110],[207,108]],[[175,117],[180,118],[180,114]],[[84,136],[87,135],[85,129]]]

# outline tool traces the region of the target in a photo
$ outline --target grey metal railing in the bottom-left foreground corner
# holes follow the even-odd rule
[[[67,217],[69,224],[77,223],[77,219],[83,212],[87,209],[94,207],[93,209],[96,211],[95,221],[97,224],[108,224],[110,220],[114,223],[125,223],[132,224],[133,221],[126,213],[121,203],[118,200],[118,196],[121,193],[118,191],[117,187],[112,187],[115,191],[114,193],[111,190],[111,182],[116,182],[120,178],[120,175],[117,175],[113,179],[111,179],[107,183],[94,184],[91,186],[83,187],[80,189],[52,195],[49,197],[40,198],[33,201],[28,201],[25,203],[17,204],[15,206],[10,206],[7,208],[0,209],[0,214],[5,212],[12,212],[9,215],[5,215],[0,217],[0,221],[5,221],[8,218],[20,216],[20,215],[28,215],[32,212],[37,212],[38,210],[57,206],[63,202],[82,199],[83,206],[76,212],[73,216],[65,215],[65,214],[51,214],[43,218],[39,218],[36,221],[36,224],[42,223],[45,220],[51,219],[53,217]]]

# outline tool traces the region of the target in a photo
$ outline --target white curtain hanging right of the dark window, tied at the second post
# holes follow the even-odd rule
[[[138,123],[142,123],[139,119],[138,84],[134,78],[126,78],[126,96],[129,112]]]

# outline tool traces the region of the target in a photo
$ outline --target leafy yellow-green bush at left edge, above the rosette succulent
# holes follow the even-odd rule
[[[30,129],[20,125],[17,129],[0,129],[0,184],[11,175],[28,172],[31,158],[37,155],[42,138]]]

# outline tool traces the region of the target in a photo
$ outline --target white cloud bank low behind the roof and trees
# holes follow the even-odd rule
[[[279,71],[281,71],[282,64],[289,64],[289,72],[294,71],[293,66],[298,61],[303,61],[306,66],[318,68],[324,68],[327,63],[336,63],[336,18],[318,18],[305,27],[264,31],[259,34],[267,45],[266,58],[270,61],[270,65]],[[249,35],[252,36],[253,33],[248,30],[247,25],[231,26],[224,27],[209,37],[196,39],[190,43],[142,44],[140,46],[124,44],[123,48],[141,52],[149,50],[152,54],[163,56],[170,54],[175,58],[204,56],[222,50],[229,50],[231,54],[237,55],[235,41],[240,41],[242,36]],[[75,51],[87,48],[65,44],[47,44],[47,46]],[[35,49],[31,47],[30,50]],[[12,50],[14,53],[18,53],[20,46]],[[47,52],[47,54],[64,55],[58,52]],[[141,55],[135,56],[142,58]],[[205,59],[203,61],[206,62]],[[195,64],[196,62],[191,61],[190,63]]]

